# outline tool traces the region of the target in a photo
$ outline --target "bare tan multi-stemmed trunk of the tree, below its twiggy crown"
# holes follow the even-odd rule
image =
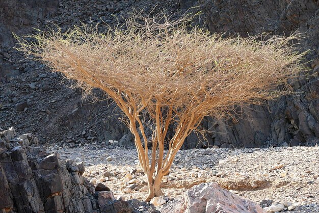
[[[102,87],[102,85],[99,86]],[[176,116],[173,116],[173,108],[171,106],[161,105],[161,101],[156,100],[153,112],[155,129],[153,129],[152,151],[149,157],[147,136],[144,131],[143,122],[140,119],[140,113],[147,107],[147,101],[151,101],[150,98],[146,102],[142,99],[143,106],[138,109],[134,98],[129,94],[126,94],[125,99],[123,99],[121,91],[115,93],[105,87],[102,87],[102,89],[114,98],[118,107],[128,118],[129,129],[135,137],[139,162],[144,174],[147,176],[149,195],[145,201],[150,201],[153,197],[163,195],[161,190],[162,179],[168,174],[177,151],[181,148],[185,138],[190,134],[192,129],[197,127],[196,125],[198,125],[197,123],[201,117],[195,117],[194,113],[183,114],[183,116],[178,117],[179,121],[177,122],[175,134],[169,141],[168,153],[164,156],[164,141],[169,125],[174,121]],[[142,143],[143,141],[144,143]],[[155,170],[156,165],[157,168]]]

